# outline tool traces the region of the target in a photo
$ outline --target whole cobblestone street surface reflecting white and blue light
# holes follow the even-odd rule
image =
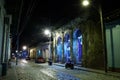
[[[2,80],[120,80],[118,76],[65,69],[55,64],[52,66],[47,63],[36,64],[34,61],[26,60],[19,60],[18,65],[13,62],[12,68],[14,68],[15,75],[4,77]]]

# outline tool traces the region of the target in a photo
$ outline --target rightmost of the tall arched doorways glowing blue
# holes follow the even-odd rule
[[[82,61],[82,34],[79,29],[73,33],[73,55],[76,64],[81,64]]]

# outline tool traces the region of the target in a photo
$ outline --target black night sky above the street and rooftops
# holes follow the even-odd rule
[[[11,33],[15,43],[22,0],[5,1],[8,13],[13,15]],[[93,4],[97,1],[92,0]],[[119,8],[118,4],[118,0],[102,0],[103,15]],[[23,0],[19,25],[20,44],[47,41],[43,34],[44,29],[64,25],[81,16],[84,16],[81,0]]]

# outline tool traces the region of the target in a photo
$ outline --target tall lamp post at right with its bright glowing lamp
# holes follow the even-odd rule
[[[90,2],[88,0],[83,0],[83,2],[82,2],[83,6],[88,6],[89,3]],[[100,24],[101,24],[101,31],[102,31],[103,54],[104,54],[104,66],[105,66],[105,72],[107,72],[107,53],[106,53],[105,28],[103,26],[103,16],[102,16],[101,3],[99,3],[97,11],[98,11],[99,16],[100,16]]]

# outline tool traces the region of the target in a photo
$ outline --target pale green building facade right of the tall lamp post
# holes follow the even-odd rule
[[[120,19],[105,24],[108,69],[120,72]]]

